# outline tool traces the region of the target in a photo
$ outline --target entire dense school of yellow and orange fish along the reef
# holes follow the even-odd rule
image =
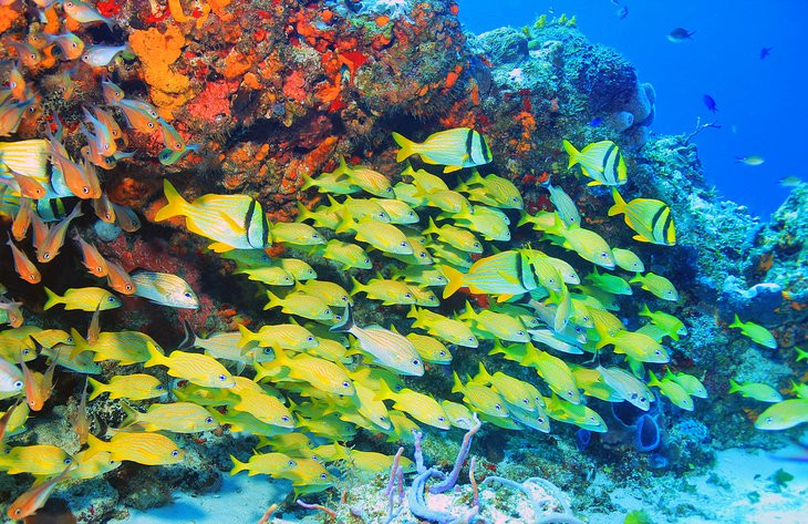
[[[60,9],[80,23],[111,23],[80,0],[62,2]],[[69,32],[41,41],[61,50],[63,61],[93,68],[131,52],[127,45],[85,47]],[[37,65],[40,50],[29,42],[14,47],[20,63],[9,71],[9,89],[0,91],[0,136],[13,135],[39,103],[23,72]],[[584,228],[574,202],[549,179],[545,188],[555,210],[528,214],[509,179],[483,174],[491,151],[479,132],[465,127],[434,133],[421,143],[394,133],[397,161],[406,161],[394,175],[339,158],[335,171],[305,177],[303,189],[325,199],[312,209],[299,204],[296,223],[270,222],[249,195],[190,199],[165,179],[166,203],[155,222],[182,217],[188,232],[210,240],[211,251],[236,264],[234,278],[260,288],[267,318],[281,320],[205,337],[186,326],[185,340],[170,349],[145,332],[103,331],[103,311],[133,297],[154,307],[199,307],[196,291],[179,276],[127,270],[121,260],[102,256],[86,234],[89,215],[130,235],[139,229],[136,213],[102,191],[97,171],[112,169],[132,154],[122,150],[126,133],[115,115],[124,116],[128,132],[162,131],[165,148],[158,160],[164,165],[198,145],[186,144],[149,103],[126,99],[108,79],[101,85],[104,104],[83,110],[86,145],[79,162],[63,145],[58,115],[43,138],[0,143],[7,259],[27,286],[42,288],[45,318],[58,308],[83,311],[89,326],[65,331],[25,323],[23,304],[7,297],[0,285],[0,325],[8,325],[0,331],[0,401],[6,405],[0,471],[43,480],[11,503],[9,517],[35,513],[61,482],[103,475],[122,462],[180,462],[182,435],[219,427],[259,436],[247,462],[232,458],[231,474],[286,479],[301,494],[335,485],[340,480],[329,469],[334,464],[367,472],[390,469],[392,456],[348,445],[360,430],[407,441],[422,424],[468,430],[476,414],[509,430],[547,433],[552,420],[605,432],[595,411],[605,403],[626,401],[649,410],[664,397],[690,411],[693,398],[706,398],[696,377],[645,369],[670,362],[675,342],[687,335],[684,323],[643,305],[639,317],[648,321],[633,321],[640,327],[632,330],[621,312],[636,309],[632,299],[621,297],[633,298],[640,290],[648,299],[677,301],[674,285],[646,271],[633,250],[610,246]],[[579,151],[563,141],[562,146],[570,169],[579,166],[589,185],[611,187],[609,216],[624,215],[635,240],[675,244],[666,204],[626,202],[618,192],[628,168],[617,144],[603,141]],[[412,157],[439,166],[438,174],[416,169]],[[526,226],[532,242],[511,246],[512,233]],[[73,248],[65,248],[68,239]],[[273,246],[299,255],[271,257],[267,249]],[[43,277],[44,265],[75,255],[75,266],[83,266],[96,286],[69,287],[66,271],[55,280]],[[318,278],[328,266],[343,274],[341,281]],[[446,300],[457,294],[465,300],[452,312]],[[390,318],[397,321],[367,320],[369,305],[393,308]],[[749,323],[736,319],[731,328],[776,347],[770,333]],[[480,351],[500,360],[477,362],[473,355]],[[32,363],[38,359],[40,366]],[[450,399],[424,392],[425,371],[448,369],[453,359],[474,360],[476,373],[453,371]],[[487,369],[503,360],[519,364],[512,373],[518,377]],[[104,378],[104,362],[128,372]],[[44,372],[32,369],[40,367]],[[174,380],[164,383],[149,373],[155,368]],[[35,424],[52,401],[53,384],[63,373],[84,376],[70,421],[77,446],[14,444],[14,436]],[[733,387],[776,400],[753,386]],[[87,415],[87,404],[101,395],[118,402],[125,413],[120,427],[104,433]],[[804,421],[805,400],[779,399],[775,407],[791,401],[797,408],[784,407],[760,424],[779,429]],[[401,460],[405,472],[414,470]]]

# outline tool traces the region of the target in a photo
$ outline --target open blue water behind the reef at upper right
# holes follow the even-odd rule
[[[628,8],[624,19],[618,17]],[[808,122],[805,35],[808,3],[800,0],[463,0],[465,28],[479,33],[503,25],[522,27],[536,17],[577,16],[592,41],[620,51],[638,69],[641,82],[656,90],[657,134],[681,134],[702,122],[722,127],[698,134],[707,179],[727,198],[766,218],[788,195],[786,176],[805,178],[796,154]],[[672,43],[674,28],[695,31],[693,40]],[[773,48],[760,60],[760,50]],[[703,102],[709,94],[718,111]],[[735,157],[759,155],[760,166]]]

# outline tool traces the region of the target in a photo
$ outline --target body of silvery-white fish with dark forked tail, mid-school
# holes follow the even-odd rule
[[[406,337],[381,326],[354,326],[349,332],[359,339],[363,351],[373,356],[385,368],[410,377],[424,374],[424,363],[415,346]]]

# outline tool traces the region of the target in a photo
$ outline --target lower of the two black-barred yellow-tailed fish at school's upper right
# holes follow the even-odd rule
[[[676,244],[676,228],[667,204],[653,198],[634,198],[626,204],[613,187],[612,197],[614,205],[609,208],[609,216],[625,214],[625,224],[636,232],[634,240],[662,246]]]

